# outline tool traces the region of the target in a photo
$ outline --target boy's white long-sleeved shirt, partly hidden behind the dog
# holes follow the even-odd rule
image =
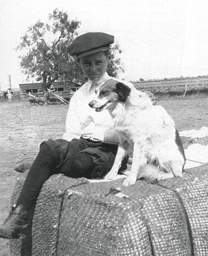
[[[136,90],[133,84],[110,77],[107,73],[96,82],[97,85],[108,79],[118,80]],[[63,139],[71,141],[73,138],[90,138],[94,141],[101,141],[111,144],[118,144],[118,135],[114,132],[113,121],[108,110],[96,112],[88,106],[93,99],[95,86],[88,80],[79,90],[75,92],[70,100],[69,111],[66,120],[66,133]]]

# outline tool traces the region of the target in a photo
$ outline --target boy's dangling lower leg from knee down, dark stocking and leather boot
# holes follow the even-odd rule
[[[43,145],[31,167],[31,174],[25,180],[16,205],[12,207],[12,211],[0,227],[1,238],[18,238],[27,227],[28,210],[35,202],[41,185],[47,180],[53,160],[53,152],[47,144]]]

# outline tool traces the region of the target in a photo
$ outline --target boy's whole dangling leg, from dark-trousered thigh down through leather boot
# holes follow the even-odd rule
[[[60,172],[66,155],[83,150],[87,145],[83,141],[67,142],[62,139],[49,140],[41,144],[40,152],[25,179],[17,204],[0,227],[1,238],[18,238],[27,227],[27,213],[36,202],[44,182],[53,174]]]

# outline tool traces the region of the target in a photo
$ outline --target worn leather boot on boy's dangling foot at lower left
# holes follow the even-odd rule
[[[13,208],[0,226],[0,238],[20,238],[22,231],[28,226],[27,213],[27,208],[22,204]]]

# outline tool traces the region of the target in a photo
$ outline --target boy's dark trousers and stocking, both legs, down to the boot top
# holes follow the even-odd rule
[[[115,160],[118,145],[91,141],[90,139],[49,139],[40,146],[23,188],[17,205],[28,209],[36,202],[44,182],[53,174],[63,173],[72,178],[85,177],[100,179],[108,173]],[[127,158],[122,162],[120,171],[126,169]]]

